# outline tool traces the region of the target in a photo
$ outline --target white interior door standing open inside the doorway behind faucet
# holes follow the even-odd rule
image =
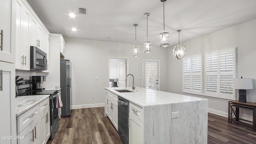
[[[119,87],[126,87],[126,59],[121,59],[119,62]]]

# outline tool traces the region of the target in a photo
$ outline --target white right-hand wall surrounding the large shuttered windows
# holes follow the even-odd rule
[[[247,90],[247,101],[256,102],[256,19],[183,42],[186,56],[236,47],[236,77],[252,78],[253,90]],[[182,39],[182,38],[181,38]],[[182,60],[172,56],[174,46],[168,48],[168,92],[182,94]],[[236,91],[236,100],[238,100]],[[186,93],[184,93],[186,94]],[[190,94],[186,94],[190,95]],[[208,99],[209,112],[228,115],[228,100],[193,95]],[[242,116],[252,118],[251,111],[242,111]]]

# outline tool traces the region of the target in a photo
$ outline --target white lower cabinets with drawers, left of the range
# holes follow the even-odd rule
[[[18,144],[46,144],[51,135],[49,98],[18,116],[17,130],[22,137]]]

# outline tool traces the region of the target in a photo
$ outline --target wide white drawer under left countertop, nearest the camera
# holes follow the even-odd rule
[[[39,105],[30,108],[24,114],[17,117],[17,133],[22,132],[36,117],[39,116]]]

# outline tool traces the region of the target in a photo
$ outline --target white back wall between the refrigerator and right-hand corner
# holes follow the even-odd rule
[[[142,87],[142,59],[160,60],[161,90],[167,91],[167,49],[152,47],[144,54],[138,46],[139,57],[132,57],[134,44],[67,38],[66,56],[72,62],[73,108],[98,106],[104,103],[104,87],[109,86],[108,58],[128,58],[129,73],[134,75],[135,86]],[[98,77],[98,80],[95,80]],[[130,83],[132,77],[130,77]],[[130,85],[131,86],[131,85]],[[92,99],[95,96],[95,99]]]

